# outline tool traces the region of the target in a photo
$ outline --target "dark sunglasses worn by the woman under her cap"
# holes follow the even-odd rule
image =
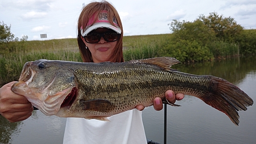
[[[83,38],[88,43],[97,43],[100,41],[101,37],[103,37],[105,41],[113,42],[113,41],[117,41],[120,38],[120,35],[121,34],[118,34],[114,31],[104,32],[104,33],[91,32],[87,36],[84,36]]]

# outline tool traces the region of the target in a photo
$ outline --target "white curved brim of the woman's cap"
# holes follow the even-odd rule
[[[87,36],[87,34],[89,34],[91,31],[98,29],[98,28],[108,28],[111,29],[115,32],[117,32],[118,34],[121,34],[121,29],[116,26],[112,26],[109,22],[98,22],[98,23],[94,23],[93,26],[89,27],[86,31],[83,32],[83,30],[81,29],[81,35],[82,36]]]

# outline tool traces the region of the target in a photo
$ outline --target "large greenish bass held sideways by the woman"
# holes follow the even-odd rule
[[[253,101],[237,86],[214,76],[171,69],[175,58],[159,57],[122,63],[81,63],[58,60],[27,62],[12,91],[24,95],[46,115],[108,120],[106,117],[151,106],[172,89],[193,95],[224,112],[238,125],[238,110]]]

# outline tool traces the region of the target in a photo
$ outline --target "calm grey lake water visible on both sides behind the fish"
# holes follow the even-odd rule
[[[215,62],[178,64],[172,68],[196,75],[224,78],[245,91],[256,102],[256,58],[232,58]],[[239,111],[240,124],[235,126],[224,113],[200,99],[185,95],[176,102],[181,107],[167,106],[167,143],[255,143],[256,106]],[[143,110],[146,137],[164,142],[163,110]],[[0,143],[62,143],[66,118],[45,116],[34,111],[23,122],[9,123],[0,116]]]

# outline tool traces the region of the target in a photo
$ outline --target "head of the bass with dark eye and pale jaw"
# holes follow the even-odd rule
[[[61,61],[41,59],[24,65],[12,91],[24,95],[44,114],[55,115],[75,88],[75,76],[67,66]]]

